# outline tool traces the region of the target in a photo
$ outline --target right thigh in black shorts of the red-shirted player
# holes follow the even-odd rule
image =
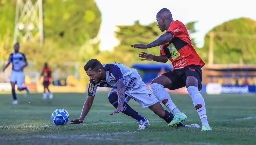
[[[202,89],[202,69],[198,65],[189,65],[186,67],[186,86],[198,87],[200,91]]]

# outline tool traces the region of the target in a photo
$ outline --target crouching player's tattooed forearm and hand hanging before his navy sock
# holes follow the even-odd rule
[[[116,88],[117,88],[117,95],[118,95],[118,107],[116,108],[116,110],[109,114],[109,115],[113,115],[119,112],[123,112],[124,108],[124,98],[125,98],[125,87],[124,87],[124,79],[121,78],[118,81],[116,81]]]

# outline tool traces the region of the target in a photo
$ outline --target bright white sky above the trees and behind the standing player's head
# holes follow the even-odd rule
[[[116,25],[133,25],[136,20],[142,25],[147,25],[156,21],[156,14],[162,8],[168,8],[173,19],[184,24],[198,21],[196,23],[198,32],[190,35],[196,39],[198,47],[204,45],[204,37],[209,30],[225,21],[239,17],[256,20],[256,2],[252,0],[95,0],[95,2],[102,13],[99,33],[101,50],[112,50],[118,45],[118,40],[114,36]]]

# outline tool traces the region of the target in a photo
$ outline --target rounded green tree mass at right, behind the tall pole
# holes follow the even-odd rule
[[[209,33],[215,32],[214,63],[256,63],[256,21],[239,18],[225,22],[210,30],[200,53],[209,53]],[[203,58],[207,63],[208,58]]]

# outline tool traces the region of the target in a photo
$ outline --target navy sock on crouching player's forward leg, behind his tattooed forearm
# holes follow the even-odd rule
[[[109,102],[115,107],[117,108],[117,105],[118,105],[118,95],[115,94],[115,93],[112,93],[109,95]],[[143,122],[146,121],[144,119],[143,116],[141,116],[138,112],[136,112],[135,110],[133,110],[131,108],[130,105],[128,105],[127,103],[124,102],[124,111],[122,113],[124,113],[125,115],[128,115],[128,116],[131,116],[132,118],[140,121],[142,120]]]

